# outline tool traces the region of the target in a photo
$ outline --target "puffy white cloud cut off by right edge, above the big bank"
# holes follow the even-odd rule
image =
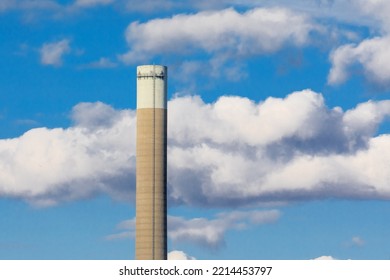
[[[390,85],[390,37],[366,39],[358,45],[348,44],[331,54],[332,68],[328,76],[330,84],[345,82],[354,66],[361,66],[364,76],[379,85]],[[356,70],[355,70],[356,72]]]

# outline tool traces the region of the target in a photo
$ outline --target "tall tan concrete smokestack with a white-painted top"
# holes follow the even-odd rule
[[[167,67],[137,67],[138,260],[167,259]]]

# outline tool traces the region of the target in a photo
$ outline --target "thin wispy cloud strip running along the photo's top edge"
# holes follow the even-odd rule
[[[390,4],[387,0],[74,0],[63,4],[55,0],[2,0],[0,12],[19,10],[24,12],[51,11],[58,15],[69,15],[69,12],[80,11],[96,6],[114,5],[117,10],[128,12],[158,13],[161,11],[187,12],[210,11],[229,7],[237,9],[264,9],[284,7],[310,18],[331,19],[355,26],[368,26],[371,29],[387,32],[390,30]],[[330,23],[328,23],[330,24]]]

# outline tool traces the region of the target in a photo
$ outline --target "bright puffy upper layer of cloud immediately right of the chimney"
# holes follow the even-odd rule
[[[292,93],[285,99],[269,97],[258,104],[235,96],[222,96],[214,104],[205,104],[194,96],[173,99],[169,105],[170,119],[175,120],[170,135],[187,145],[208,140],[267,145],[292,136],[303,140],[319,133],[316,130],[326,121],[341,117],[338,109],[328,111],[323,97],[310,90]],[[303,123],[309,126],[302,127]]]

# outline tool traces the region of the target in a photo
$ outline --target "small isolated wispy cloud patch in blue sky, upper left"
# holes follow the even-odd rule
[[[62,57],[69,53],[70,50],[70,41],[68,39],[45,43],[40,49],[41,63],[44,65],[61,66]]]

